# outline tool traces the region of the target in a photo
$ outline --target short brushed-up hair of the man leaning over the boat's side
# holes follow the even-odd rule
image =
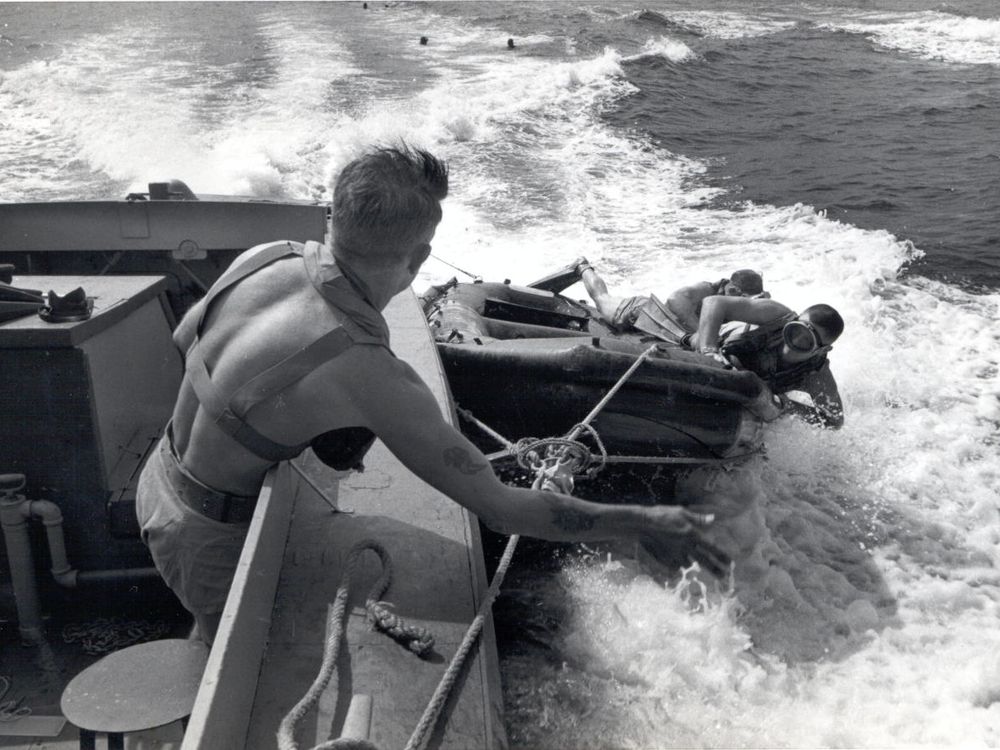
[[[392,262],[408,240],[441,221],[448,166],[423,149],[378,147],[341,170],[333,190],[338,253]]]

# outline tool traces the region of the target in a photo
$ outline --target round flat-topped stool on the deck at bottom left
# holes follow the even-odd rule
[[[80,729],[81,750],[94,750],[98,732],[109,750],[125,747],[125,734],[181,719],[194,707],[208,647],[180,638],[151,641],[108,654],[70,680],[63,715]]]

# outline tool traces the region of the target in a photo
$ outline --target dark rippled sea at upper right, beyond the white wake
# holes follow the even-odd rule
[[[824,15],[817,21],[800,11],[780,31],[738,45],[677,30],[700,64],[644,57],[624,66],[639,92],[611,117],[709,161],[726,200],[804,203],[837,221],[886,229],[924,251],[912,272],[995,289],[996,40],[978,60],[967,47],[975,34],[954,50],[961,62],[933,48],[899,55],[872,44],[873,35],[902,45],[919,31],[930,47],[948,28],[946,17],[936,27],[933,19],[872,14],[845,24],[833,11]],[[642,20],[669,27],[659,13]]]

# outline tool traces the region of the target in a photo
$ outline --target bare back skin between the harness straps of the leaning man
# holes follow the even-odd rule
[[[184,351],[193,340],[198,312],[192,311],[175,334]],[[293,255],[248,276],[214,300],[203,323],[201,346],[212,380],[221,393],[229,394],[338,324],[310,284],[302,259]],[[384,354],[391,359],[387,351]],[[247,420],[284,445],[306,443],[327,430],[360,425],[355,407],[364,391],[352,386],[363,381],[358,371],[361,364],[347,350],[254,406]],[[273,463],[253,455],[213,424],[199,409],[188,379],[174,409],[173,431],[174,447],[185,466],[222,492],[255,494]]]

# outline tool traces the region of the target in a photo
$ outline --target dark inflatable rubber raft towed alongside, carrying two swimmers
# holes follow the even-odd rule
[[[779,409],[757,375],[616,332],[594,307],[540,285],[452,280],[421,298],[455,401],[487,434],[569,433],[652,346],[591,423],[610,457],[724,462],[759,450]]]

